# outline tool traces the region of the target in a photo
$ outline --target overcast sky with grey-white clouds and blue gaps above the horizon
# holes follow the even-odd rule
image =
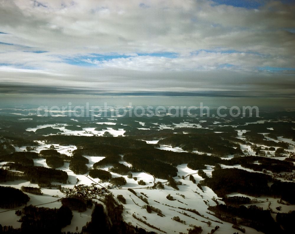
[[[292,2],[2,0],[0,93],[294,97]]]

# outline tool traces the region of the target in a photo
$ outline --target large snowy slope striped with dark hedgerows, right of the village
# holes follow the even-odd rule
[[[177,168],[178,168],[179,176],[182,176],[182,175],[187,176],[189,174],[196,173],[196,171],[187,168],[186,164],[178,165]],[[210,169],[208,171],[210,171]],[[202,178],[198,176],[198,174],[193,174],[193,176],[195,177],[197,183],[199,182],[199,180],[202,180]],[[137,206],[134,202],[136,202],[140,206],[145,205],[145,203],[142,202],[139,198],[137,198],[134,194],[124,189],[124,187],[123,189],[112,189],[111,192],[113,193],[115,197],[117,196],[117,194],[122,194],[124,198],[126,199],[127,204],[124,205],[124,212],[123,212],[124,221],[131,222],[132,225],[135,225],[135,226],[140,224],[142,227],[148,230],[153,230],[149,228],[148,226],[142,224],[141,222],[135,220],[132,217],[132,214],[134,213],[137,217],[142,218],[143,220],[145,220],[143,218],[143,216],[145,216],[147,218],[146,221],[148,223],[154,225],[155,227],[160,228],[163,231],[166,231],[167,233],[174,233],[174,231],[178,233],[179,232],[187,233],[186,229],[189,228],[189,224],[201,226],[203,228],[204,233],[210,232],[212,227],[214,227],[215,225],[220,226],[218,233],[227,234],[227,233],[234,233],[236,231],[235,229],[232,229],[232,224],[227,222],[223,222],[223,224],[220,224],[220,223],[216,223],[212,221],[212,227],[208,227],[207,223],[201,222],[201,220],[205,222],[208,221],[207,218],[205,217],[209,217],[212,220],[217,220],[216,217],[206,213],[208,211],[207,210],[208,206],[204,203],[204,200],[208,200],[207,202],[208,204],[214,205],[215,202],[212,201],[211,198],[213,196],[217,198],[217,195],[211,189],[207,187],[203,187],[204,192],[202,192],[199,188],[197,188],[196,184],[193,184],[191,181],[189,181],[189,176],[187,176],[184,180],[177,179],[177,178],[176,180],[179,180],[182,182],[182,184],[186,184],[186,185],[178,185],[179,190],[174,190],[173,188],[167,185],[164,185],[165,187],[164,190],[148,189],[148,188],[146,189],[133,188],[138,196],[141,195],[140,192],[143,192],[144,194],[146,194],[148,197],[149,204],[151,206],[157,207],[160,210],[162,210],[162,213],[163,215],[165,215],[165,217],[159,217],[158,215],[155,214],[155,212],[152,212],[151,214],[149,214],[145,211],[145,209],[142,209],[141,207]],[[200,195],[196,194],[195,192],[199,192],[200,195],[203,196],[203,198]],[[173,196],[174,199],[176,200],[169,201],[168,199],[166,199],[166,196],[168,194],[171,194],[171,196]],[[185,198],[177,194],[183,194]],[[134,202],[132,201],[132,199],[134,200]],[[177,200],[183,202],[184,204],[178,202]],[[160,202],[160,204],[158,202]],[[168,204],[173,207],[166,206],[165,204]],[[174,208],[174,207],[196,209],[197,211],[200,212],[201,215],[204,215],[204,217],[198,216],[189,211],[185,211],[192,217],[199,220],[197,221],[191,217],[181,214],[182,210],[178,208]],[[186,221],[186,225],[172,220],[174,216],[179,216],[181,220]],[[247,233],[258,233],[256,230],[252,228],[245,227],[245,229]],[[156,231],[156,232],[161,233],[159,231]]]

